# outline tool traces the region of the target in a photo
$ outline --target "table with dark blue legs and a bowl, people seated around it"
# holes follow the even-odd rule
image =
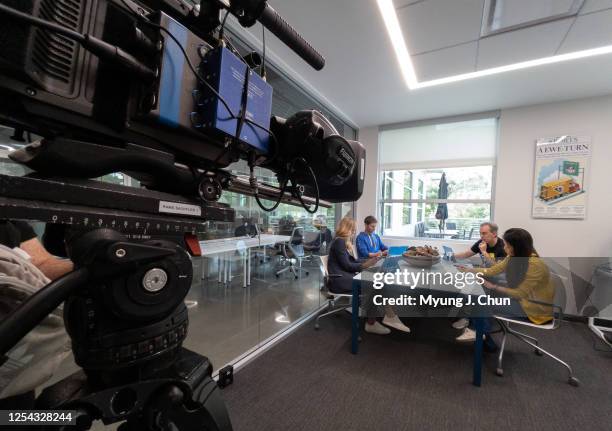
[[[363,293],[363,288],[371,289],[373,288],[374,282],[374,274],[380,272],[395,272],[396,268],[399,268],[400,271],[408,271],[419,273],[423,272],[424,274],[428,273],[442,273],[442,274],[456,274],[458,269],[449,261],[441,260],[440,263],[433,265],[431,268],[424,269],[410,266],[406,261],[401,259],[400,257],[390,257],[386,259],[397,259],[397,266],[392,267],[391,271],[389,268],[385,268],[385,259],[379,261],[374,267],[368,268],[363,272],[357,274],[353,278],[353,291],[352,291],[352,316],[351,316],[351,352],[353,354],[357,354],[359,352],[359,337],[361,331],[361,321],[359,316],[359,307],[360,307],[360,297]],[[415,274],[416,275],[416,274]],[[472,301],[477,303],[477,296],[485,295],[483,287],[476,283],[465,283],[465,286],[461,289],[448,284],[441,284],[437,282],[432,282],[428,277],[423,276],[423,280],[421,283],[417,283],[414,285],[414,289],[411,289],[410,285],[403,284],[394,280],[393,283],[385,283],[385,287],[378,292],[382,293],[385,291],[385,296],[388,295],[388,292],[395,291],[401,292],[401,294],[408,294],[411,296],[418,295],[432,295],[436,298],[457,298],[462,297],[464,302],[468,301],[468,297],[472,297]],[[474,327],[476,330],[476,340],[474,342],[474,361],[473,361],[473,373],[472,373],[472,383],[475,386],[480,386],[482,382],[482,353],[483,353],[483,335],[484,335],[484,319],[483,317],[485,313],[483,312],[482,306],[470,306],[469,314],[461,314],[456,317],[472,317],[474,322]],[[450,317],[450,316],[449,316]],[[449,319],[450,325],[450,319]]]

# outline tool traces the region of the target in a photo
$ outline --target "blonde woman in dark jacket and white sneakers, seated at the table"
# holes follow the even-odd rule
[[[353,277],[364,269],[374,266],[380,259],[379,257],[361,260],[355,258],[353,239],[356,232],[355,220],[350,217],[344,217],[340,220],[336,230],[336,238],[331,243],[327,260],[327,272],[340,275],[340,277],[330,278],[329,290],[333,293],[351,293]],[[378,323],[374,307],[368,307],[367,316],[366,332],[379,335],[386,335],[391,332],[389,328]],[[385,317],[382,323],[399,331],[410,332],[410,328],[401,322],[391,307],[385,307]]]

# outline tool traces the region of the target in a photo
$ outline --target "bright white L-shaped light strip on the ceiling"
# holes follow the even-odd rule
[[[498,73],[511,72],[513,70],[527,69],[545,64],[560,63],[562,61],[577,60],[579,58],[594,57],[612,53],[612,45],[602,46],[600,48],[586,49],[584,51],[570,52],[568,54],[554,55],[551,57],[538,58],[535,60],[523,61],[520,63],[509,64],[507,66],[493,67],[490,69],[479,70],[476,72],[462,73],[460,75],[448,76],[446,78],[433,79],[431,81],[418,82],[412,59],[406,42],[402,35],[397,13],[393,6],[393,0],[377,0],[378,7],[387,26],[387,32],[395,48],[397,60],[404,74],[404,79],[408,88],[416,90],[418,88],[434,87],[436,85],[450,84],[452,82],[465,81],[466,79],[480,78],[483,76],[495,75]]]

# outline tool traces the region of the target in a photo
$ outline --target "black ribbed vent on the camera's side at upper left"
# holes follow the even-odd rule
[[[62,27],[79,31],[81,2],[78,0],[42,0],[39,16]],[[37,30],[32,61],[41,75],[66,84],[74,80],[77,43],[58,34]]]

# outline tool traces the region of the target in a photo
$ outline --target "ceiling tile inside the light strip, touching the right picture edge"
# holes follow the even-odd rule
[[[612,45],[612,10],[579,16],[559,54]]]

